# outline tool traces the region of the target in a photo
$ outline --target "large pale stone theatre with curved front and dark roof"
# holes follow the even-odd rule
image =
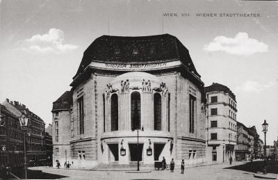
[[[176,37],[103,35],[71,86],[74,165],[204,162],[204,83]]]

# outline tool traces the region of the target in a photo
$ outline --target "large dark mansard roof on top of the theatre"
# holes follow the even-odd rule
[[[136,53],[137,52],[137,53]],[[188,49],[173,35],[123,37],[102,35],[84,51],[81,64],[74,78],[92,61],[105,63],[161,63],[181,60],[199,76]]]

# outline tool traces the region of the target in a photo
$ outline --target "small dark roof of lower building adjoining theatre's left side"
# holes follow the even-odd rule
[[[72,107],[72,92],[66,91],[54,103],[52,111],[69,110]]]

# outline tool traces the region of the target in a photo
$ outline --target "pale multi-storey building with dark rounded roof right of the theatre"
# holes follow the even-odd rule
[[[236,96],[227,86],[213,83],[206,92],[206,159],[229,161],[235,158]]]

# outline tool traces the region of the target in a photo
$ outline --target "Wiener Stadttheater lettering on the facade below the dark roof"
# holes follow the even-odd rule
[[[166,66],[167,63],[151,63],[151,64],[136,64],[136,65],[105,63],[105,67],[113,67],[113,68],[120,68],[120,69],[144,69],[144,68],[166,67]]]

